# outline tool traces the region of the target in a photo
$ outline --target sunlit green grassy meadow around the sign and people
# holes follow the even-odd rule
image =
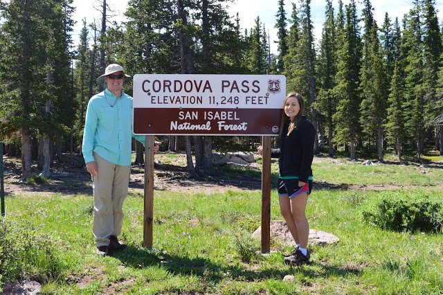
[[[175,156],[159,157],[168,163]],[[142,247],[143,190],[130,189],[121,236],[128,248],[107,257],[97,256],[93,244],[91,194],[7,195],[0,262],[17,262],[0,273],[0,283],[33,279],[44,294],[443,294],[441,229],[392,231],[363,217],[392,192],[443,201],[443,157],[428,157],[373,166],[316,157],[317,189],[307,217],[311,229],[340,241],[309,245],[311,263],[299,267],[284,264],[287,245],[272,240],[271,253],[261,255],[260,240],[251,238],[260,226],[260,190],[156,190],[154,249],[148,250]],[[275,180],[276,161],[271,170]],[[271,220],[282,220],[275,189]],[[287,275],[295,280],[283,281]]]

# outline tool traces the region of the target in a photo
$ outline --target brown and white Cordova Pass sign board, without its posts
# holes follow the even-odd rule
[[[134,75],[135,134],[276,135],[284,75]]]

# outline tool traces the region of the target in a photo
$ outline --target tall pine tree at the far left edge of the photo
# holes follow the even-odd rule
[[[45,6],[43,1],[11,0],[0,3],[0,80],[6,89],[1,117],[8,129],[21,133],[21,179],[32,176],[31,136],[42,123],[39,112],[46,78]],[[42,54],[43,53],[43,54]]]

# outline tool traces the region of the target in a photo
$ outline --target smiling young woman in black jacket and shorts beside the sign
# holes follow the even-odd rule
[[[303,98],[299,93],[289,93],[284,99],[284,114],[280,126],[280,148],[271,150],[271,157],[278,161],[280,176],[278,179],[278,201],[280,212],[293,240],[296,251],[285,256],[287,263],[300,264],[309,262],[307,242],[309,224],[305,215],[307,196],[312,188],[312,159],[314,158],[314,140],[316,131],[305,116]],[[258,147],[262,154],[262,146]]]

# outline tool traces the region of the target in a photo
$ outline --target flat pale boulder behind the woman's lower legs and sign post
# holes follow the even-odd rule
[[[262,235],[262,226],[260,226],[252,234],[253,238],[260,238]],[[271,220],[271,239],[279,240],[289,246],[295,246],[291,233],[289,232],[286,222],[283,220]],[[324,244],[334,244],[338,242],[335,235],[327,233],[325,231],[318,231],[316,229],[309,229],[309,244],[314,245],[324,245]]]

